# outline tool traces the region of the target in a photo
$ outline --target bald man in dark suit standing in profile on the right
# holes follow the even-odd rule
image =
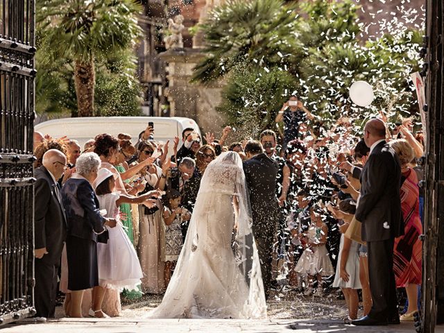
[[[386,126],[371,119],[364,128],[370,155],[361,173],[361,194],[356,219],[362,223],[362,239],[368,246],[368,271],[373,306],[368,316],[354,325],[399,324],[393,243],[404,233],[400,200],[401,167],[395,151],[388,146]]]

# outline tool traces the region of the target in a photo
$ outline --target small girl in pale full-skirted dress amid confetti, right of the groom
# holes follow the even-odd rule
[[[307,232],[300,234],[301,244],[305,246],[295,271],[304,276],[309,285],[305,294],[313,293],[312,287],[314,279],[318,280],[318,290],[316,296],[323,296],[323,277],[334,274],[332,262],[328,256],[327,237],[328,228],[322,221],[322,212],[319,208],[310,208],[311,224]]]

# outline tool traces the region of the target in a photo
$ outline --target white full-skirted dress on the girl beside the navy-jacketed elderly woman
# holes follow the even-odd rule
[[[111,193],[99,198],[100,209],[106,210],[105,217],[119,220],[119,207],[116,205],[119,194]],[[108,226],[108,243],[97,244],[99,283],[102,287],[133,290],[140,284],[142,268],[133,244],[119,221],[114,228]]]

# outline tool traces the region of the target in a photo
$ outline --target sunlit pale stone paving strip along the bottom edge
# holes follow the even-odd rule
[[[338,333],[413,333],[413,323],[379,327],[354,327],[343,325],[341,321],[291,321],[268,319],[262,321],[248,320],[198,320],[198,319],[56,319],[46,323],[33,323],[26,319],[20,324],[6,325],[1,333],[194,333],[194,332],[229,332],[229,333],[280,333],[292,332],[338,332]],[[444,327],[435,332],[444,333]]]

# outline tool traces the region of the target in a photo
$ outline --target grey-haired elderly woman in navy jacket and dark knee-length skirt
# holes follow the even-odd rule
[[[94,288],[94,299],[99,286],[96,243],[108,239],[106,225],[114,228],[117,223],[115,219],[104,218],[99,212],[99,200],[92,183],[100,165],[101,160],[96,153],[80,155],[76,162],[76,173],[62,188],[67,214],[68,289],[71,290],[67,316],[75,318],[82,318],[83,291]],[[100,307],[94,303],[89,312],[93,316],[104,316]]]

